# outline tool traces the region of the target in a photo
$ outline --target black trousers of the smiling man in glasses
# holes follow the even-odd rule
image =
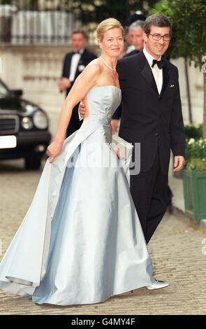
[[[161,172],[159,151],[148,172],[131,175],[131,195],[148,244],[168,207],[168,174]]]

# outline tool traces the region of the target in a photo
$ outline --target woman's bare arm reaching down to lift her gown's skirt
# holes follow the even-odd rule
[[[101,73],[101,68],[98,64],[89,64],[84,71],[78,76],[68,93],[64,104],[59,114],[59,121],[57,125],[57,133],[54,141],[47,147],[47,151],[51,157],[50,162],[60,153],[64,143],[66,129],[71,119],[73,108],[83,99],[87,92],[96,84],[96,80]]]

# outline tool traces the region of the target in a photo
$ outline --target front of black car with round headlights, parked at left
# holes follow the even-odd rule
[[[26,169],[39,169],[51,139],[48,118],[21,96],[0,80],[0,160],[24,158]]]

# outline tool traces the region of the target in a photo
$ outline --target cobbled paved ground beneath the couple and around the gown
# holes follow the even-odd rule
[[[24,171],[22,160],[0,162],[0,258],[29,208],[40,174]],[[148,247],[156,279],[170,282],[168,288],[140,288],[103,303],[68,307],[40,306],[0,290],[0,314],[206,314],[205,238],[206,231],[181,212],[166,214]]]

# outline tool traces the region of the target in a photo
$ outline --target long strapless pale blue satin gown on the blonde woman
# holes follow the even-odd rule
[[[0,288],[38,304],[103,302],[154,282],[125,168],[110,147],[121,90],[91,88],[87,102],[89,116],[47,160],[0,264]]]

